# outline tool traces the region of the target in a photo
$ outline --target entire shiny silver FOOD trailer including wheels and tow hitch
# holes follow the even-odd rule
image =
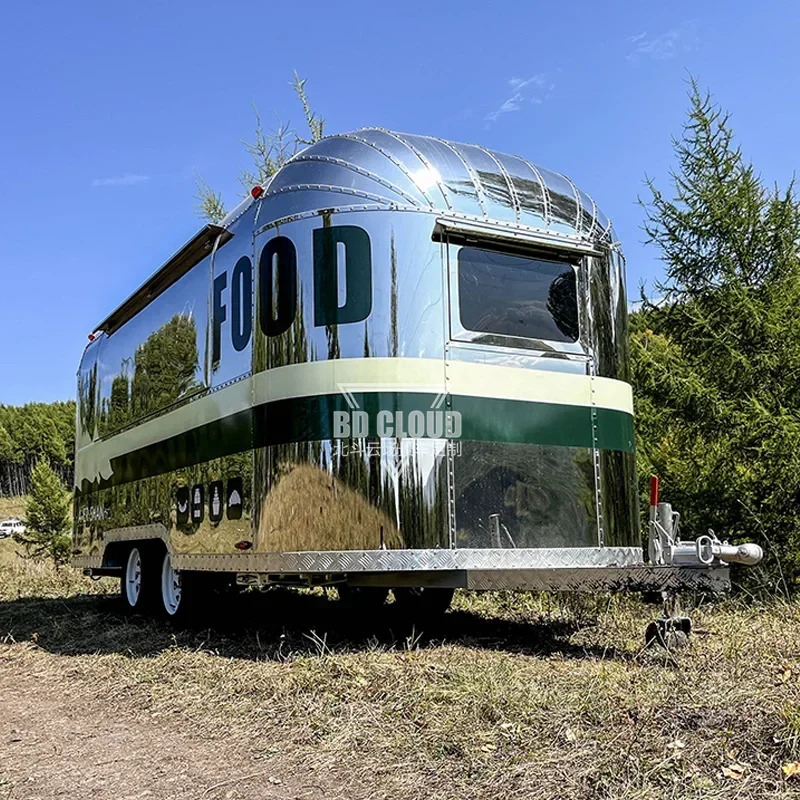
[[[681,543],[656,501],[643,551],[626,317],[611,224],[564,175],[323,139],[91,337],[73,564],[167,614],[210,573],[429,605],[723,588],[757,547]]]

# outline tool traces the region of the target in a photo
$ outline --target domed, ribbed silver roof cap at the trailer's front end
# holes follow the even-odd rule
[[[479,145],[383,128],[311,145],[272,178],[265,197],[320,189],[594,242],[611,235],[594,200],[560,173]]]

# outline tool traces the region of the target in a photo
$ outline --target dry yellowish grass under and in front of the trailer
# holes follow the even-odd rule
[[[415,629],[320,591],[234,596],[192,630],[122,616],[114,582],[3,558],[0,659],[128,715],[186,719],[347,797],[789,797],[800,605],[699,603],[642,647],[625,596],[457,594]],[[797,783],[795,784],[795,782]]]

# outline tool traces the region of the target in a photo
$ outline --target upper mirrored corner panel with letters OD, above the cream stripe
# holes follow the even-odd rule
[[[277,303],[281,295],[277,285],[281,275],[292,272],[284,273],[280,268],[286,258],[293,259],[296,264],[296,287],[292,289],[296,307],[288,327],[269,337],[271,341],[261,341],[265,336],[262,323],[256,325],[255,371],[324,359],[443,357],[442,257],[441,245],[432,241],[435,222],[432,215],[384,211],[321,213],[271,226],[265,219],[270,214],[271,206],[265,203],[258,220],[261,232],[255,243],[255,272],[259,280],[271,277],[276,287],[275,291],[267,291],[258,284],[256,318],[277,319],[277,305],[270,308],[269,313],[262,313],[260,304],[270,298],[273,304]],[[325,230],[330,231],[329,237],[323,235]],[[285,247],[273,245],[267,251],[269,263],[266,263],[262,259],[265,248],[270,240],[278,237],[286,240]],[[323,253],[326,238],[332,249]],[[351,245],[352,251],[349,250]],[[320,272],[332,273],[330,282],[320,280],[318,286],[315,285],[315,258]],[[368,265],[363,263],[365,259],[369,259]],[[347,297],[349,270],[355,270],[358,276],[359,270],[367,268],[371,283],[368,306],[364,306],[369,308],[367,316],[346,324],[327,324],[324,314],[320,317],[318,313],[316,301],[319,298],[315,297],[315,289],[334,292],[336,308],[344,309],[354,299]],[[355,290],[361,291],[362,287],[354,287]]]

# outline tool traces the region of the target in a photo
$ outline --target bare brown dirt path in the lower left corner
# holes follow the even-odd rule
[[[136,715],[80,683],[0,660],[0,797],[317,798],[340,795],[257,759],[246,742],[193,735],[185,719]],[[42,680],[45,678],[45,680]]]

